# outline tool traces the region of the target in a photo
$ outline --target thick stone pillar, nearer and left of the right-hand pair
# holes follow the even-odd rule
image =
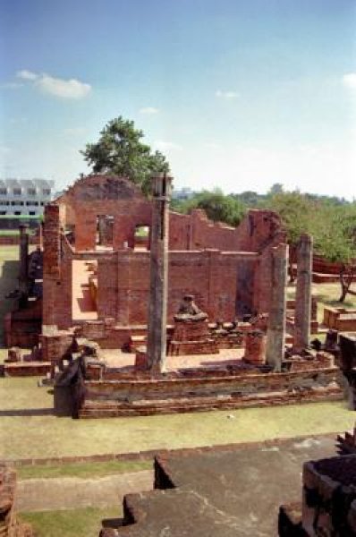
[[[281,371],[284,357],[288,246],[281,243],[271,249],[271,301],[267,325],[266,360],[274,371]]]

